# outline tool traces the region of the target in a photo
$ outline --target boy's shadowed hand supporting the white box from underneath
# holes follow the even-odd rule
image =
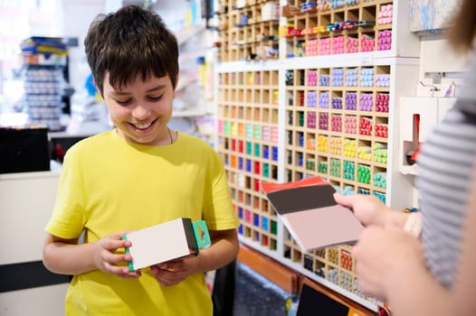
[[[198,255],[200,256],[200,255]],[[158,283],[171,286],[184,281],[188,275],[195,274],[197,256],[169,261],[160,265],[152,265],[150,271]]]

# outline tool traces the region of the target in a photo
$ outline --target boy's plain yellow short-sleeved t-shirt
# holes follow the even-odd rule
[[[205,219],[211,230],[237,228],[224,166],[214,149],[179,133],[165,146],[131,144],[108,131],[66,154],[46,230],[92,243],[111,233],[174,218]],[[157,243],[167,240],[157,240]],[[148,270],[123,279],[95,270],[74,276],[66,315],[212,315],[204,274],[163,287]]]

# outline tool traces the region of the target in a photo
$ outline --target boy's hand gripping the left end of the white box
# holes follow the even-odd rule
[[[131,246],[129,240],[122,240],[122,235],[129,231],[118,232],[104,237],[96,242],[94,252],[94,265],[101,271],[116,274],[124,278],[136,278],[140,272],[130,272],[128,265],[119,265],[132,260],[129,254],[119,253],[118,249]]]

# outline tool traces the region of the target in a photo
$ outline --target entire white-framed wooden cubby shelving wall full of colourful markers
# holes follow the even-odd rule
[[[246,51],[262,45],[256,32],[246,31],[254,24],[233,24],[243,13],[259,21],[266,3],[221,2],[219,19],[227,27],[219,32],[217,148],[242,222],[241,242],[376,311],[379,302],[358,290],[351,246],[302,252],[259,186],[319,175],[338,191],[373,194],[393,209],[412,204],[413,180],[398,168],[398,99],[414,94],[419,65],[407,1],[331,3],[338,2],[300,12],[309,3],[281,2],[287,14],[273,26],[279,58],[250,62]],[[322,32],[345,21],[367,24]],[[290,33],[290,26],[307,31]],[[233,44],[237,38],[246,50]]]

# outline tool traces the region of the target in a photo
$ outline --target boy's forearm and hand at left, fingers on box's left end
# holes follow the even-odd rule
[[[43,264],[55,274],[84,274],[100,269],[122,277],[137,277],[129,273],[121,262],[131,260],[128,254],[116,254],[118,248],[130,246],[130,241],[121,240],[124,232],[112,234],[96,243],[78,244],[78,239],[63,239],[47,234],[43,246]]]

